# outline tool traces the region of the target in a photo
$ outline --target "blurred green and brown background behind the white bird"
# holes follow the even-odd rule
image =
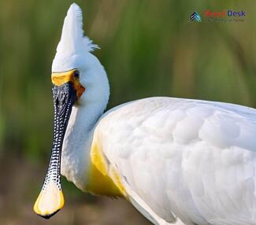
[[[50,221],[32,212],[52,140],[50,68],[72,1],[0,3],[0,224],[150,224],[128,203],[90,197],[64,181],[67,204]],[[108,109],[150,96],[256,107],[256,2],[80,0],[86,34],[101,50]],[[209,22],[206,9],[244,10]],[[197,11],[202,23],[189,20]]]

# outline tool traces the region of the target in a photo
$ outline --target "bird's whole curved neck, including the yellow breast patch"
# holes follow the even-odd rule
[[[113,168],[105,167],[101,142],[95,135],[99,118],[109,100],[109,82],[95,59],[91,70],[80,76],[85,93],[72,107],[61,153],[61,175],[81,190],[94,194],[124,196]]]

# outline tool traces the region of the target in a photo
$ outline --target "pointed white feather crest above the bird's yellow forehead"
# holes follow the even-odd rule
[[[88,52],[98,48],[84,35],[83,15],[79,6],[73,3],[65,17],[61,41],[58,43],[52,72],[68,71],[78,68]]]

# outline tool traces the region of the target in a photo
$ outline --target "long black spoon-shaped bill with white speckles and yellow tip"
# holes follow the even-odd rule
[[[50,154],[50,164],[44,179],[42,190],[35,201],[34,211],[49,219],[64,205],[61,190],[61,148],[66,127],[76,101],[76,89],[71,82],[61,86],[54,85],[54,141]]]

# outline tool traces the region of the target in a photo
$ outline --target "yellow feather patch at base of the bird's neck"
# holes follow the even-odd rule
[[[126,197],[117,170],[108,164],[97,142],[91,147],[91,180],[87,183],[87,190],[93,194],[112,197]]]

